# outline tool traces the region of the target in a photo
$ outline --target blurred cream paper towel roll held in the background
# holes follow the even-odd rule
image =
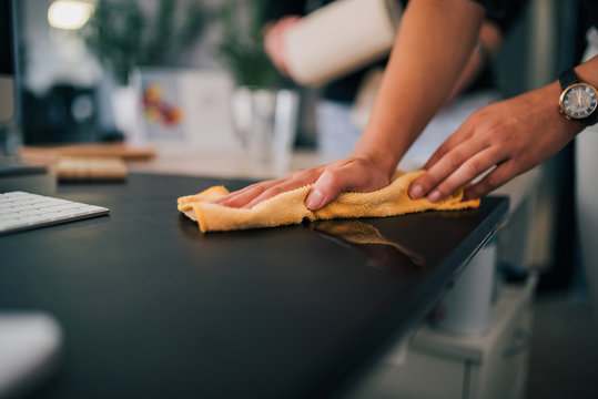
[[[286,34],[288,74],[318,85],[382,59],[401,13],[397,0],[337,0],[310,13]]]

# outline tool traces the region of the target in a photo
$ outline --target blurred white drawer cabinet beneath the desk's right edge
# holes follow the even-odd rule
[[[479,336],[422,327],[374,368],[351,398],[519,399],[526,395],[535,279],[501,289]],[[405,355],[405,354],[403,354]]]

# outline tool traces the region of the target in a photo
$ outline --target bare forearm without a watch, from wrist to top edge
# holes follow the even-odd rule
[[[469,0],[412,0],[379,94],[353,155],[391,174],[443,105],[478,37],[484,9]]]

